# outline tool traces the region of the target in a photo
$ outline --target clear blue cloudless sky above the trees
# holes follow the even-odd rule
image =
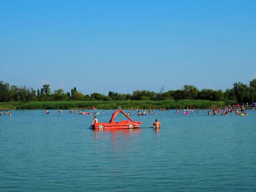
[[[83,94],[256,78],[256,0],[1,0],[0,81]]]

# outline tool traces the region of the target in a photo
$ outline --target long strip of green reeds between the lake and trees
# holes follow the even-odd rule
[[[227,102],[228,103],[228,102]],[[1,109],[207,109],[210,107],[221,108],[227,104],[224,101],[214,102],[209,100],[164,100],[164,101],[63,101],[63,102],[7,102],[0,103]]]

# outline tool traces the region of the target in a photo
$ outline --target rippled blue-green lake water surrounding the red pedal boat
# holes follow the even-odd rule
[[[130,111],[141,128],[110,131],[91,130],[93,116],[68,110],[11,111],[0,116],[3,192],[256,191],[256,111]],[[114,112],[97,111],[99,122]]]

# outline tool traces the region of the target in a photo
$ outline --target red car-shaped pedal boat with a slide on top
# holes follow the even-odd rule
[[[123,113],[129,120],[114,122],[114,119],[118,115],[118,113]],[[122,111],[122,109],[117,109],[113,113],[113,115],[108,123],[97,122],[94,125],[92,125],[91,127],[93,129],[133,129],[133,128],[139,128],[141,124],[142,124],[142,122],[137,122],[137,121],[132,120],[129,116],[127,116],[125,114],[124,111]]]

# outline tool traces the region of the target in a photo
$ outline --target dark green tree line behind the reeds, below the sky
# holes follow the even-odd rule
[[[239,103],[256,102],[256,79],[250,83],[243,84],[241,82],[234,83],[233,88],[222,90],[202,89],[198,90],[193,85],[185,84],[182,89],[168,90],[162,86],[157,92],[149,90],[134,90],[130,93],[114,93],[109,91],[105,96],[101,93],[91,93],[83,95],[76,90],[76,87],[70,92],[65,93],[63,89],[50,89],[49,84],[44,84],[41,90],[34,90],[26,86],[15,86],[9,83],[0,81],[0,102],[40,102],[40,101],[161,101],[161,100],[210,100],[210,101],[233,101]]]

